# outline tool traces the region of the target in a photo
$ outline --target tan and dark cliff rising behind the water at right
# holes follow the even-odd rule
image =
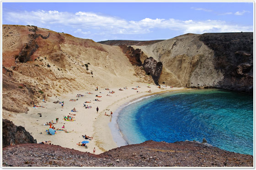
[[[253,91],[253,33],[186,34],[133,48],[163,64],[159,83]]]

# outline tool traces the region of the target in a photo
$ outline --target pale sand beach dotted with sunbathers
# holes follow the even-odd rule
[[[141,88],[137,90],[132,90],[139,85]],[[151,88],[147,87],[145,83],[138,83],[134,85],[129,85],[128,90],[123,89],[123,91],[118,90],[119,88],[109,88],[110,90],[115,91],[114,94],[109,94],[109,90],[105,88],[99,88],[98,91],[91,91],[93,94],[86,94],[89,91],[77,91],[76,93],[62,95],[59,97],[51,97],[47,100],[46,103],[42,102],[40,105],[45,106],[45,108],[38,107],[38,109],[29,108],[29,111],[22,114],[11,114],[12,116],[8,117],[8,120],[13,121],[15,125],[21,125],[25,127],[27,131],[37,139],[37,143],[51,140],[53,145],[60,145],[62,147],[87,151],[93,153],[94,147],[96,148],[96,154],[100,154],[107,150],[111,150],[117,147],[116,142],[112,138],[111,130],[108,126],[108,123],[112,120],[111,116],[104,115],[107,112],[110,115],[110,111],[113,112],[113,115],[117,114],[115,110],[121,105],[134,100],[136,98],[142,97],[144,95],[153,95],[155,93],[173,91],[173,90],[182,90],[186,88],[170,88],[163,87],[164,89],[157,88],[156,85],[150,85]],[[95,88],[96,89],[96,88]],[[149,93],[148,91],[152,92]],[[85,95],[84,97],[76,97],[77,94]],[[111,96],[107,96],[107,94]],[[96,97],[96,95],[101,95],[101,98]],[[77,101],[69,101],[70,99],[78,99]],[[94,101],[99,99],[102,101]],[[64,101],[64,108],[61,107],[61,104],[54,104],[53,101]],[[91,103],[86,103],[86,105],[91,105],[91,109],[85,109],[83,103],[85,101],[91,101]],[[99,107],[99,113],[96,112],[96,107]],[[73,108],[76,108],[78,112],[71,112]],[[109,109],[109,111],[108,111]],[[42,117],[39,117],[37,113],[41,113]],[[69,115],[69,113],[76,114],[75,121],[64,121],[63,117]],[[8,115],[8,112],[6,113]],[[57,130],[55,135],[48,135],[46,129],[49,128],[48,125],[43,125],[46,122],[53,120],[56,122],[56,118],[59,118],[59,122],[54,124],[54,127],[61,128],[65,125],[65,129],[71,131],[70,133],[65,133],[64,131]],[[4,118],[4,117],[3,117]],[[74,130],[74,131],[73,131]],[[40,134],[42,132],[42,134]],[[85,149],[84,146],[76,145],[78,142],[84,140],[82,135],[93,136],[93,140],[89,140],[89,143],[86,144],[88,149]]]

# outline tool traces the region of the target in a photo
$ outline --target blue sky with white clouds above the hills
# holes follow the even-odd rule
[[[35,25],[75,37],[166,40],[187,33],[252,32],[247,2],[5,2],[2,24]]]

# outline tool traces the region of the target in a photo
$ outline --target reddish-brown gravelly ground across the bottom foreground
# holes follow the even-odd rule
[[[86,149],[85,149],[86,150]],[[252,167],[253,156],[197,142],[154,142],[127,145],[93,155],[57,145],[20,144],[3,148],[3,166],[48,167]]]

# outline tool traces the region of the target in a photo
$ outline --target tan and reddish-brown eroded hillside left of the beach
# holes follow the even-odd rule
[[[153,82],[118,46],[36,26],[3,25],[3,109],[26,112],[47,96]]]

